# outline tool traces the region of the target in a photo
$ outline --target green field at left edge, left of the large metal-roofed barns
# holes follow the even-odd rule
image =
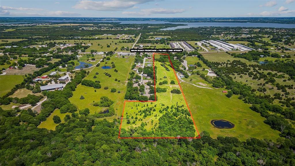
[[[24,80],[22,75],[0,75],[0,97],[4,96],[6,93],[17,84],[20,84]]]

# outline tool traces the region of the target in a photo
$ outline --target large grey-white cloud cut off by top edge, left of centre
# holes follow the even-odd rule
[[[78,2],[73,8],[86,9],[86,10],[98,10],[98,11],[117,11],[134,7],[137,4],[145,4],[152,0],[111,0],[111,1],[90,1],[82,0]]]

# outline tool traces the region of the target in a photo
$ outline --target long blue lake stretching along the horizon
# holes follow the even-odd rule
[[[48,22],[83,22],[73,20],[46,20]],[[161,30],[176,30],[191,27],[270,27],[295,28],[295,24],[255,23],[255,22],[166,22],[166,21],[92,21],[92,22],[120,22],[120,24],[186,24],[183,26],[164,28]]]

